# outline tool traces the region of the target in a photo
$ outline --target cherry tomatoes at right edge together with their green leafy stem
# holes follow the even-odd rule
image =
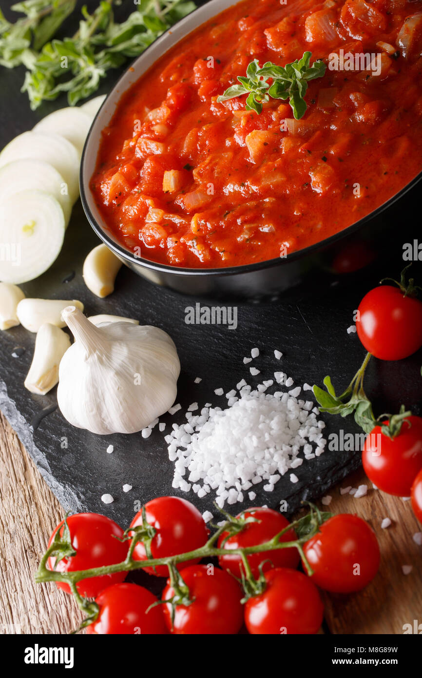
[[[413,278],[406,280],[409,266],[402,271],[400,282],[394,281],[397,287],[381,284],[359,304],[356,328],[368,353],[350,386],[339,396],[329,376],[324,379],[326,391],[314,386],[321,412],[343,417],[354,412],[356,422],[371,434],[362,450],[364,471],[379,490],[396,496],[410,496],[415,478],[422,473],[422,418],[406,412],[402,405],[398,414],[375,419],[363,380],[371,355],[400,360],[422,346],[422,302],[416,298],[421,287]],[[413,506],[418,516],[417,500]]]

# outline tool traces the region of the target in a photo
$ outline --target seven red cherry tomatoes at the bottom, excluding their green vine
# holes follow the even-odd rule
[[[149,550],[154,559],[189,553],[205,546],[209,539],[201,513],[184,499],[160,497],[148,502],[144,509],[146,521],[154,527],[155,534],[148,549],[142,542],[136,544],[135,560],[146,560]],[[240,515],[255,520],[246,522],[240,531],[219,536],[217,547],[227,554],[219,556],[218,566],[199,563],[198,559],[177,565],[188,597],[175,605],[172,601],[177,592],[170,578],[161,603],[143,586],[125,583],[127,572],[80,580],[79,595],[95,599],[99,607],[98,617],[87,627],[88,633],[225,635],[239,633],[244,626],[252,634],[317,633],[323,616],[317,587],[351,593],[364,588],[377,574],[379,546],[371,527],[355,515],[335,515],[302,546],[314,571],[311,577],[296,569],[300,558],[295,547],[248,555],[251,574],[254,580],[261,577],[262,586],[257,595],[242,602],[245,595],[240,585],[242,558],[230,552],[265,544],[290,523],[266,507],[249,509]],[[96,513],[80,513],[68,517],[67,525],[76,555],[58,562],[51,556],[50,570],[56,566],[58,572],[75,572],[125,560],[130,541],[121,541],[123,530],[114,521]],[[131,527],[139,525],[141,511]],[[58,530],[62,534],[63,527],[63,522],[56,527],[49,545]],[[287,542],[295,539],[293,528],[282,535]],[[169,576],[167,565],[146,567],[145,571],[151,576]],[[58,582],[58,586],[69,591],[64,582]]]

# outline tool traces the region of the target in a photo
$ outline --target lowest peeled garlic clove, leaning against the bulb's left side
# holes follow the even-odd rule
[[[33,361],[25,379],[31,393],[45,395],[59,380],[59,365],[70,346],[70,337],[56,325],[44,323],[37,332]]]

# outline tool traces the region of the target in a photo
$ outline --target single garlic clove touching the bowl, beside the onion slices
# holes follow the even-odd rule
[[[94,247],[83,262],[83,279],[88,290],[101,298],[111,294],[121,266],[121,260],[106,245]]]

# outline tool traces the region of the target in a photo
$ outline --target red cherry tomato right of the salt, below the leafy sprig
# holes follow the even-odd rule
[[[410,497],[412,483],[422,468],[422,418],[404,419],[393,439],[381,433],[381,426],[375,426],[365,439],[362,463],[379,490]]]

